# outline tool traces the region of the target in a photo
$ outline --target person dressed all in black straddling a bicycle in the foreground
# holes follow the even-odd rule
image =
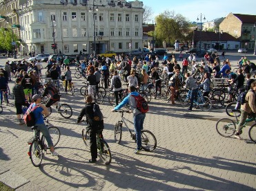
[[[86,115],[86,122],[88,124],[87,128],[90,130],[90,155],[92,156],[92,159],[89,160],[90,163],[95,163],[97,161],[97,132],[100,131],[102,135],[102,131],[104,128],[104,121],[101,122],[95,122],[93,120],[94,117],[94,111],[93,111],[93,105],[95,102],[92,102],[92,95],[86,96],[84,99],[86,102],[86,106],[81,109],[81,112],[79,114],[79,117],[77,117],[77,123],[81,122],[81,119],[83,118],[83,115]],[[100,125],[97,125],[97,123],[100,123]],[[101,127],[101,128],[97,128]],[[103,137],[103,136],[102,136]]]

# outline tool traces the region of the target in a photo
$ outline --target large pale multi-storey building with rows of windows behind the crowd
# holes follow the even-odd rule
[[[15,0],[12,0],[15,1]],[[96,54],[142,47],[141,1],[19,0],[20,38],[24,53]],[[95,24],[95,40],[93,26]],[[131,43],[131,47],[129,44]]]

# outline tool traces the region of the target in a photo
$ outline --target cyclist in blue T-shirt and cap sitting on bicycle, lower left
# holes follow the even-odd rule
[[[39,94],[35,94],[32,97],[32,100],[34,101],[34,103],[32,103],[32,108],[37,106],[37,108],[33,111],[35,116],[35,126],[37,126],[37,130],[43,133],[43,136],[46,137],[46,141],[48,143],[48,147],[50,147],[50,153],[52,153],[52,156],[59,156],[53,147],[48,127],[43,121],[43,115],[49,115],[49,111],[45,105],[41,104],[41,98],[42,97]],[[34,131],[34,133],[36,134],[36,131]]]

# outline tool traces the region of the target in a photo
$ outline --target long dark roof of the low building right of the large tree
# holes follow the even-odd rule
[[[227,32],[223,32],[220,36],[221,41],[239,41],[234,36],[231,36]],[[194,41],[200,41],[200,31],[195,31]],[[219,41],[219,33],[202,31],[201,32],[201,41]]]

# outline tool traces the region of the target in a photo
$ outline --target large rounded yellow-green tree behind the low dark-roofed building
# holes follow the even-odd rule
[[[181,14],[175,12],[165,11],[159,14],[155,21],[157,26],[155,28],[157,40],[166,41],[166,43],[174,43],[175,40],[187,41],[188,34],[190,34],[190,22]]]

